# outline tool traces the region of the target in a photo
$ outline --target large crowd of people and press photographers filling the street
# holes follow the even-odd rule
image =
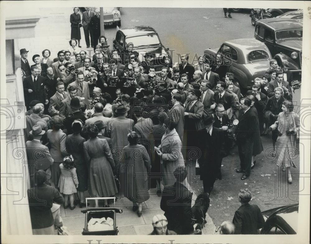
[[[38,213],[49,212],[51,199],[74,209],[86,207],[87,190],[92,197],[120,193],[132,201],[132,210],[140,217],[149,189],[156,188],[165,217],[154,217],[154,231],[168,222],[169,231],[165,228],[163,233],[191,233],[192,189],[187,169],[196,165],[203,190],[210,194],[216,179],[222,178],[223,157],[236,145],[240,159],[236,172],[245,180],[264,149],[261,136],[270,131],[275,162],[292,183],[290,167],[296,167],[295,156],[286,151],[295,148],[299,138],[299,115],[291,102],[288,63],[279,67],[271,60],[271,67],[245,94],[234,74],[226,72],[220,55],[215,64],[201,56],[195,65],[182,55],[180,64],[173,69],[163,66],[157,76],[152,54],[146,53],[141,62],[133,43],[120,54],[109,50],[105,36],[98,36],[91,40],[95,54],[89,57],[80,49],[80,31],[74,29],[80,23],[77,14],[75,8],[70,46],[57,57],[50,59],[50,50],[44,49],[42,59],[34,54],[35,64],[30,66],[29,51],[20,50],[31,189],[44,185],[48,191],[42,195],[50,199],[43,209],[30,207],[33,229],[50,228],[51,214],[49,223],[41,223]],[[241,193],[244,207],[234,216],[236,233],[256,232],[254,226],[248,226],[251,231],[241,230],[246,217],[239,213],[246,211],[249,195],[248,190]],[[170,199],[177,199],[176,204],[168,204]],[[105,200],[103,206],[109,202]],[[230,223],[222,225],[225,229],[232,232]]]

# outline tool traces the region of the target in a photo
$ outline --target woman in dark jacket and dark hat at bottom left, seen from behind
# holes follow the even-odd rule
[[[33,235],[54,235],[53,202],[62,204],[63,196],[53,186],[45,183],[45,171],[36,173],[35,187],[27,190]]]

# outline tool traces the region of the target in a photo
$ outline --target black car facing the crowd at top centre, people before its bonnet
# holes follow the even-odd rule
[[[172,59],[169,49],[162,45],[159,35],[150,26],[135,26],[121,28],[117,31],[116,37],[112,40],[113,48],[122,54],[126,50],[126,44],[134,44],[133,51],[139,53],[139,60],[144,60],[147,52],[153,55],[151,64],[155,66],[156,75],[160,76],[162,67],[170,68]]]

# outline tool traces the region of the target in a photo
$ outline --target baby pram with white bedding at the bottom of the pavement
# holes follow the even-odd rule
[[[101,200],[101,199],[113,199],[114,208],[88,208],[87,200]],[[115,197],[92,197],[86,198],[86,208],[81,209],[81,212],[85,214],[85,227],[82,230],[82,235],[101,235],[101,236],[116,236],[119,234],[119,228],[116,226],[116,213],[122,213],[122,209],[115,208]],[[92,218],[112,218],[113,229],[104,231],[89,231],[88,223]]]

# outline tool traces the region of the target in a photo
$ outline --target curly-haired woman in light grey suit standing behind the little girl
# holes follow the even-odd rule
[[[68,155],[66,150],[66,134],[61,128],[63,128],[63,118],[54,116],[50,120],[51,129],[48,130],[47,138],[51,146],[50,154],[54,159],[54,163],[51,166],[51,181],[55,187],[58,187],[58,181],[60,177],[59,165],[63,162],[63,158]]]

